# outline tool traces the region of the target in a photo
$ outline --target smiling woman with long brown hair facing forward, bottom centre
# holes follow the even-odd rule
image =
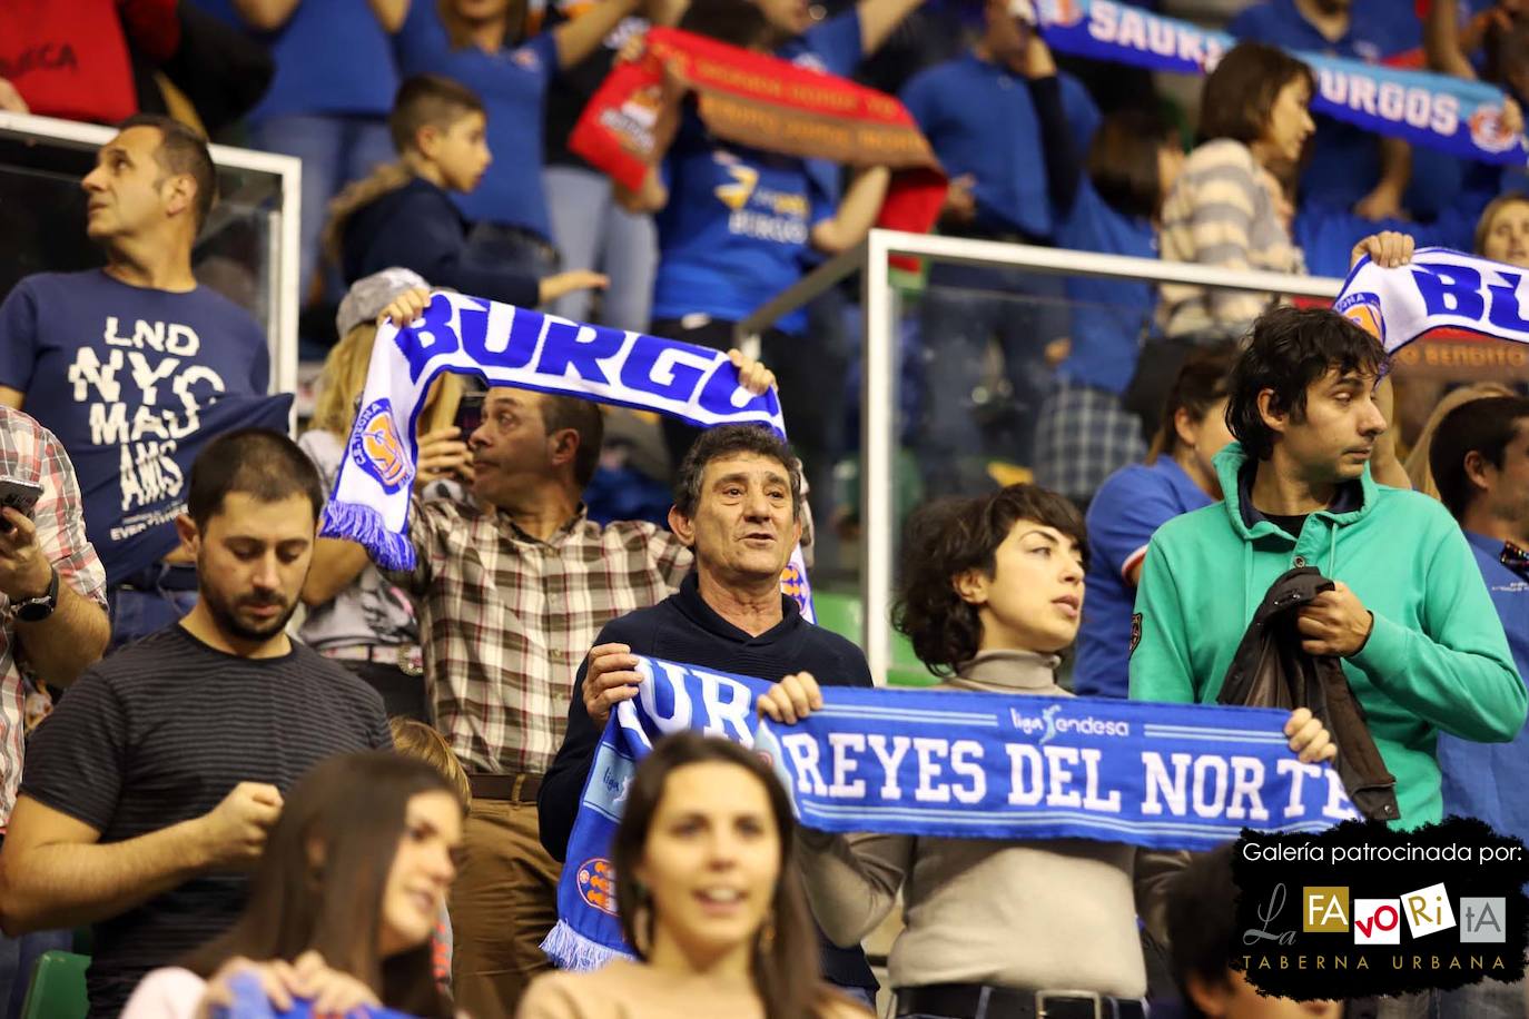
[[[612,846],[638,961],[541,976],[520,1019],[865,1016],[818,978],[794,836],[786,791],[755,753],[688,732],[659,742]]]

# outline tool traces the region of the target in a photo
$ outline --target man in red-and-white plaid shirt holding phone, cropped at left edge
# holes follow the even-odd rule
[[[0,406],[0,477],[43,489],[31,513],[0,510],[0,820],[21,782],[26,686],[69,686],[106,649],[106,571],[86,541],[75,469],[54,434]],[[63,941],[55,946],[52,941]],[[67,947],[67,935],[0,938],[0,1007],[24,956]],[[47,944],[44,944],[47,943]],[[20,998],[14,1002],[20,1008]]]

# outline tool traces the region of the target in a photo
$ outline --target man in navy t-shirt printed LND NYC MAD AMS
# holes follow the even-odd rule
[[[75,463],[121,645],[194,602],[174,530],[191,449],[234,425],[286,422],[255,399],[271,374],[265,332],[191,273],[217,192],[206,142],[133,118],[81,186],[107,264],[28,277],[0,304],[0,402],[24,405]]]

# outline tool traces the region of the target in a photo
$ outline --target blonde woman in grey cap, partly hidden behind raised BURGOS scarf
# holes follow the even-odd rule
[[[333,487],[346,455],[356,402],[372,362],[376,316],[404,290],[428,286],[407,269],[388,269],[358,280],[339,306],[342,339],[329,351],[318,382],[309,431],[298,445]],[[431,388],[419,416],[419,474],[414,486],[472,475],[466,437],[453,419],[462,397],[460,376],[445,374]],[[408,597],[384,579],[353,541],[320,538],[313,567],[303,585],[307,619],[300,636],[323,655],[338,658],[378,694],[388,715],[430,720],[425,703],[419,625]]]

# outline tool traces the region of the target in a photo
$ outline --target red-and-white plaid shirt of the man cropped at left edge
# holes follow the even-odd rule
[[[0,406],[0,475],[43,486],[43,495],[32,509],[43,555],[58,568],[63,582],[106,610],[106,570],[86,541],[75,469],[54,432],[8,406]],[[0,594],[0,822],[9,820],[15,790],[21,784],[23,671],[31,677],[31,669],[24,668],[26,648],[20,651],[18,662],[15,610],[11,599]]]

